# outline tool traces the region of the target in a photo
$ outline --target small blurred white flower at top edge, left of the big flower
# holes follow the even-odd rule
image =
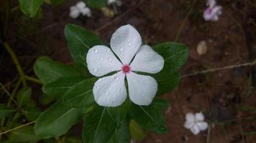
[[[83,1],[79,1],[76,6],[70,7],[69,16],[73,19],[78,18],[78,16],[82,14],[83,16],[91,16],[91,9],[86,7],[86,4]]]

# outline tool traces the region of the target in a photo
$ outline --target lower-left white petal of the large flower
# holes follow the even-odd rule
[[[100,106],[117,107],[127,97],[127,89],[124,85],[125,74],[121,71],[109,77],[97,80],[93,87],[93,96]]]

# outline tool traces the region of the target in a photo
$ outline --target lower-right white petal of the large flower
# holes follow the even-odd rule
[[[157,82],[150,76],[127,74],[129,98],[138,105],[149,105],[157,93]]]

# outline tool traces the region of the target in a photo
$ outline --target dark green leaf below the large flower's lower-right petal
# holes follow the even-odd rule
[[[165,119],[161,113],[163,109],[168,107],[165,99],[155,98],[150,106],[139,106],[133,104],[131,109],[132,119],[134,119],[141,127],[157,134],[168,132],[165,125]]]

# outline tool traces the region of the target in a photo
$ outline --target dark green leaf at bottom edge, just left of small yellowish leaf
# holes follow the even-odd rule
[[[129,128],[127,121],[123,120],[116,125],[114,132],[107,143],[130,143]]]

